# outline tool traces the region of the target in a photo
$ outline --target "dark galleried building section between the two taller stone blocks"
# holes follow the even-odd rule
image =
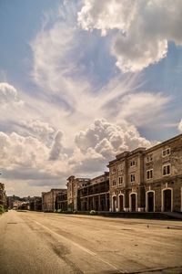
[[[90,180],[89,184],[77,190],[78,210],[109,210],[109,173]]]

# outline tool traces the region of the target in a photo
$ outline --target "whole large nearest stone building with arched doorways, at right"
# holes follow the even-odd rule
[[[109,162],[110,211],[182,211],[182,134]]]

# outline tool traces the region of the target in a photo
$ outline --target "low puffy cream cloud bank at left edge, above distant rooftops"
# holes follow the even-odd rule
[[[47,179],[60,180],[68,171],[66,154],[58,159],[62,132],[57,132],[52,147],[32,136],[0,132],[1,170],[6,179],[34,180],[35,184]],[[56,163],[50,162],[57,160]],[[49,181],[50,182],[50,181]],[[42,183],[43,184],[43,183]],[[61,184],[61,183],[60,183]]]

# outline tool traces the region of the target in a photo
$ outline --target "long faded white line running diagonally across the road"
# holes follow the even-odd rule
[[[89,255],[93,256],[93,257],[96,257],[97,259],[99,259],[100,261],[104,262],[106,265],[108,265],[109,267],[111,267],[112,269],[115,269],[118,273],[128,273],[126,270],[119,270],[116,268],[116,266],[114,266],[113,264],[109,263],[108,261],[106,261],[104,258],[101,258],[100,256],[98,256],[95,252],[91,251],[90,249],[88,248],[84,248],[83,246],[77,244],[76,242],[74,242],[73,240],[67,238],[67,237],[64,237],[58,233],[56,233],[55,231],[51,230],[50,228],[48,227],[45,227],[44,225],[42,225],[41,223],[33,220],[35,222],[36,225],[40,226],[40,227],[43,227],[45,228],[45,230],[49,231],[50,233],[54,234],[56,237],[60,237],[64,240],[66,240],[69,244],[71,245],[74,245],[76,248],[79,248],[83,251],[85,251],[86,253],[88,253]]]

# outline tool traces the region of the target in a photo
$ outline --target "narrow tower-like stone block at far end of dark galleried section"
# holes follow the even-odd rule
[[[79,187],[86,186],[90,184],[90,179],[88,178],[76,178],[75,176],[70,176],[67,178],[67,209],[70,211],[77,210],[77,190]]]

